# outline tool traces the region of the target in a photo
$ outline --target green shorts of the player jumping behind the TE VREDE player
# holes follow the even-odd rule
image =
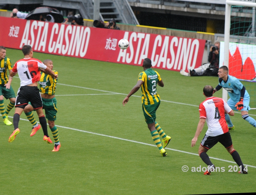
[[[56,120],[57,119],[56,114],[58,111],[57,100],[55,98],[52,98],[52,99],[42,98],[42,101],[43,101],[43,109],[45,111],[45,118],[48,120]],[[31,105],[30,102],[28,104]]]

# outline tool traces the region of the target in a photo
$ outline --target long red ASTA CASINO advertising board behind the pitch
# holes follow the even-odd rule
[[[36,20],[0,17],[0,45],[33,51],[141,66],[144,58],[158,69],[180,71],[201,66],[205,40]],[[127,39],[126,50],[118,47]]]

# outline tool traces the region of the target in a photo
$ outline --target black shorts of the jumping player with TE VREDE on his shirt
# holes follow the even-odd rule
[[[37,87],[22,86],[18,90],[15,107],[24,109],[28,102],[35,110],[43,107],[42,98]]]

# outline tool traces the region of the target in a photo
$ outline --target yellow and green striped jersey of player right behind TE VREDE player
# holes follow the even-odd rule
[[[58,74],[57,71],[53,70],[55,74]],[[39,90],[42,93],[46,93],[48,95],[54,95],[56,89],[57,79],[52,78],[51,75],[47,75],[41,72],[41,77],[39,81]]]

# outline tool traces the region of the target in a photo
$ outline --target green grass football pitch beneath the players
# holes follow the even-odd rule
[[[12,64],[23,58],[22,52],[14,49],[7,49],[6,56]],[[55,93],[58,107],[55,124],[68,128],[58,127],[61,148],[59,152],[52,152],[53,144],[43,141],[42,130],[33,137],[29,136],[32,126],[28,121],[20,120],[20,134],[12,143],[8,142],[8,138],[13,126],[1,122],[0,194],[204,194],[256,191],[256,168],[248,167],[248,175],[242,175],[228,172],[228,166],[236,164],[212,159],[215,166],[225,167],[225,172],[205,176],[203,172],[191,172],[191,167],[206,166],[199,156],[167,149],[168,155],[162,157],[156,147],[131,142],[154,145],[144,121],[141,99],[131,97],[125,107],[122,105],[123,94],[128,94],[136,84],[142,67],[51,54],[34,53],[34,57],[41,61],[51,59],[54,70],[59,72]],[[204,126],[196,147],[191,148],[199,121],[198,107],[193,105],[199,105],[204,100],[203,87],[215,87],[218,78],[185,77],[179,72],[157,71],[164,81],[164,88],[158,86],[157,92],[162,100],[171,101],[162,101],[156,112],[156,121],[172,137],[167,148],[197,153],[207,126]],[[19,86],[19,78],[13,78],[15,93]],[[140,96],[140,90],[135,95]],[[214,95],[221,97],[222,92]],[[7,106],[8,101],[4,103]],[[13,114],[14,109],[9,116]],[[255,110],[249,114],[256,118]],[[21,119],[26,119],[24,113]],[[236,126],[235,131],[231,132],[234,148],[244,164],[256,166],[256,129],[243,120],[240,113],[235,113],[231,119]],[[49,127],[48,133],[52,138]],[[210,149],[208,155],[233,161],[220,143]],[[189,167],[188,172],[181,170],[183,165]]]

